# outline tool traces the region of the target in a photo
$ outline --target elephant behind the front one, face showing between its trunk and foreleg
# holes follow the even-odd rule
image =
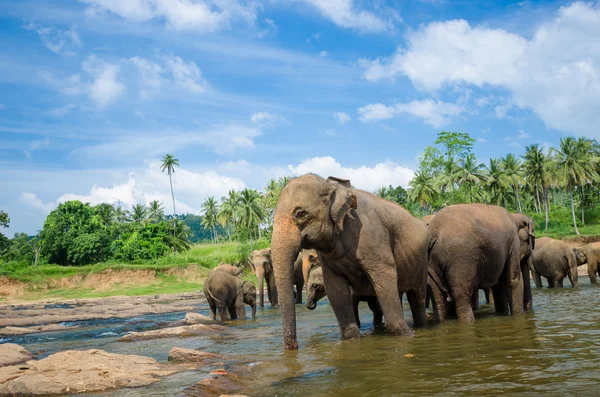
[[[316,250],[303,250],[302,253],[302,270],[306,280],[306,307],[309,310],[314,310],[317,307],[317,302],[327,296],[325,284],[323,283],[323,269]],[[382,325],[383,312],[377,298],[374,296],[358,296],[352,291],[356,324],[360,327],[360,317],[358,315],[358,304],[360,302],[367,302],[369,309],[373,312],[373,325]]]

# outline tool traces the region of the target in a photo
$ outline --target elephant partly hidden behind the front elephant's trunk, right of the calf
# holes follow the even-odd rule
[[[273,273],[273,264],[271,262],[271,249],[252,251],[250,254],[250,266],[256,274],[258,280],[258,292],[260,296],[260,307],[265,307],[265,291],[263,281],[267,284],[267,296],[271,306],[279,306],[277,296],[277,285],[275,284],[275,275]],[[298,255],[294,263],[294,285],[296,287],[295,300],[297,304],[302,303],[302,289],[304,288],[304,277],[302,276],[302,254]]]

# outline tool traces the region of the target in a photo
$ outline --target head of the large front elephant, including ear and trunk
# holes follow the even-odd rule
[[[297,349],[296,308],[293,292],[293,266],[302,248],[333,251],[336,233],[357,206],[350,181],[317,175],[292,179],[281,191],[271,249],[286,349]]]

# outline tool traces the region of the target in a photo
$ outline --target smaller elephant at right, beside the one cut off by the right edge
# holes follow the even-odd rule
[[[581,254],[569,247],[564,241],[541,237],[537,239],[533,250],[533,279],[537,288],[542,288],[542,277],[548,281],[549,288],[562,288],[565,277],[571,285],[577,287],[577,265]]]

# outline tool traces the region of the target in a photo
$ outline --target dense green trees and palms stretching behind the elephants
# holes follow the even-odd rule
[[[419,158],[418,170],[405,190],[384,186],[374,193],[421,217],[457,203],[500,205],[532,214],[538,229],[553,223],[580,234],[586,213],[596,221],[600,201],[600,145],[586,138],[566,137],[558,148],[531,145],[521,155],[506,154],[489,163],[477,161],[475,140],[466,133],[440,132]],[[249,244],[269,237],[279,194],[288,178],[270,180],[262,192],[231,190],[217,200],[209,197],[200,214],[176,214],[172,174],[179,161],[163,158],[173,196],[173,214],[162,203],[136,204],[130,209],[111,204],[69,201],[60,204],[35,236],[0,233],[0,263],[40,262],[85,265],[103,261],[137,263],[185,251],[191,244],[230,241]],[[587,211],[586,211],[587,209]],[[570,226],[568,223],[570,222]],[[0,211],[0,227],[10,218]]]

